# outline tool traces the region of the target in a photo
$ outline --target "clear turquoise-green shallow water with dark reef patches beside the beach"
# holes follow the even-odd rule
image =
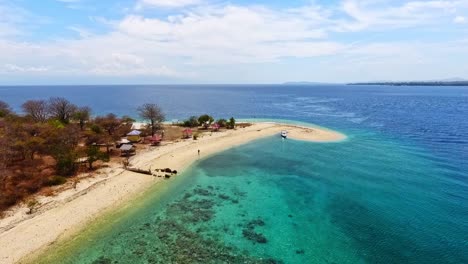
[[[261,139],[198,162],[44,262],[467,263],[466,225],[454,224],[466,211],[440,170],[375,134]]]

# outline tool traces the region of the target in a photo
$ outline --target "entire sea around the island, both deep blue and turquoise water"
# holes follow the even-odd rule
[[[43,263],[468,263],[468,87],[0,87],[95,114],[287,120],[337,143],[260,139],[200,160]]]

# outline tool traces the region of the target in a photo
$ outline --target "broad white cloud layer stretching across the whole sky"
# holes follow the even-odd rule
[[[0,5],[0,61],[3,64],[0,64],[0,72],[210,78],[206,77],[208,72],[218,69],[229,72],[249,67],[249,64],[281,65],[297,58],[333,61],[334,66],[330,64],[327,69],[339,70],[340,76],[358,75],[357,69],[401,74],[403,70],[392,71],[392,67],[407,69],[403,65],[407,63],[423,69],[424,65],[436,65],[433,60],[444,60],[445,54],[460,52],[462,46],[440,44],[435,47],[404,40],[385,43],[372,39],[373,34],[369,34],[372,41],[360,41],[350,40],[349,35],[378,31],[392,36],[394,29],[431,28],[444,21],[450,24],[456,14],[468,8],[465,0],[404,4],[379,0],[379,5],[376,1],[344,0],[333,7],[310,4],[282,10],[259,5],[197,5],[201,2],[189,0],[145,2],[153,7],[164,6],[164,3],[167,6],[171,2],[173,7],[185,8],[171,9],[168,12],[172,15],[168,17],[153,17],[148,15],[151,12],[135,10],[117,20],[91,17],[93,22],[105,24],[109,31],[91,33],[74,25],[68,29],[76,31],[79,38],[25,42],[15,40],[11,36],[18,32],[7,29],[14,29],[9,26],[26,20],[17,16],[6,19],[1,16]],[[192,4],[195,6],[187,7]],[[345,37],[341,38],[340,34]],[[436,54],[438,57],[431,59]],[[318,69],[317,73],[320,71],[325,69]]]

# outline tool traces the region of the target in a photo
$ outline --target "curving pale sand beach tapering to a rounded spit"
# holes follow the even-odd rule
[[[196,141],[169,142],[138,153],[130,162],[142,169],[171,168],[180,173],[199,159],[256,139],[279,137],[281,130],[288,130],[288,137],[295,140],[338,142],[346,139],[345,135],[326,128],[261,122],[246,128],[204,134]],[[51,245],[73,237],[96,218],[122,208],[164,181],[164,178],[125,171],[115,163],[96,174],[98,179],[87,179],[87,182],[80,182],[77,190],[65,190],[49,198],[49,203],[28,217],[24,217],[24,211],[18,210],[13,218],[1,219],[0,262],[30,261]]]

